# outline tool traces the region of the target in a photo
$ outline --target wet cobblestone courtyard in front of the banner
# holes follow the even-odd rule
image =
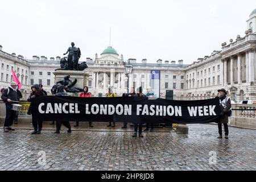
[[[49,127],[41,135],[26,127],[9,133],[1,128],[0,170],[256,170],[255,130],[229,127],[227,140],[217,139],[216,125],[188,126],[188,135],[156,129],[144,138],[119,126],[72,134]],[[210,151],[216,164],[209,164]],[[44,152],[46,163],[39,164]]]

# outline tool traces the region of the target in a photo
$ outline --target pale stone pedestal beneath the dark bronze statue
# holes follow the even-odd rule
[[[84,86],[87,86],[87,80],[90,76],[88,73],[85,73],[84,71],[72,71],[72,70],[58,70],[56,72],[53,72],[53,75],[55,75],[54,82],[56,84],[57,81],[63,80],[65,76],[70,75],[70,80],[74,81],[77,79],[75,87],[84,88]],[[71,96],[77,96],[78,93],[68,93]]]

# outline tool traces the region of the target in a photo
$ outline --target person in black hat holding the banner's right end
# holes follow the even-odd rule
[[[218,138],[222,138],[222,124],[224,125],[224,130],[225,130],[225,138],[228,139],[229,135],[229,129],[228,129],[228,122],[229,122],[229,113],[231,111],[231,101],[228,96],[226,96],[228,93],[226,92],[225,89],[220,89],[218,90],[218,93],[220,93],[220,97],[216,97],[220,99],[220,120],[217,122],[218,123]]]

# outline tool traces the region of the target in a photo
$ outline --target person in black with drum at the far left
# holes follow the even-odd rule
[[[3,90],[3,94],[1,96],[6,106],[6,117],[5,117],[5,124],[3,127],[3,131],[5,132],[14,131],[14,129],[11,128],[11,125],[13,125],[16,111],[19,108],[19,105],[15,105],[15,104],[18,104],[19,100],[21,101],[21,98],[20,99],[18,98],[16,86],[17,84],[15,82],[11,82],[11,85],[9,86],[9,88]]]

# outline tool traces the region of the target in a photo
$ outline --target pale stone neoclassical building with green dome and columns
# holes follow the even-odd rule
[[[247,20],[245,36],[238,35],[230,43],[222,43],[220,51],[213,51],[192,64],[179,61],[158,60],[155,64],[146,59],[137,62],[129,59],[133,71],[129,87],[142,86],[143,92],[151,86],[151,71],[160,71],[160,97],[165,98],[167,90],[173,90],[174,100],[203,100],[217,96],[217,90],[225,88],[235,102],[256,100],[256,9]],[[89,92],[94,97],[105,97],[109,86],[118,96],[127,92],[127,77],[123,66],[123,55],[113,47],[106,48],[100,56],[86,59],[89,73]],[[0,46],[1,80],[0,88],[9,86],[13,69],[22,82],[24,98],[30,93],[31,85],[43,84],[50,93],[55,84],[54,72],[60,67],[60,57],[33,56],[24,59],[15,53],[7,53]],[[71,78],[72,79],[72,78]]]

